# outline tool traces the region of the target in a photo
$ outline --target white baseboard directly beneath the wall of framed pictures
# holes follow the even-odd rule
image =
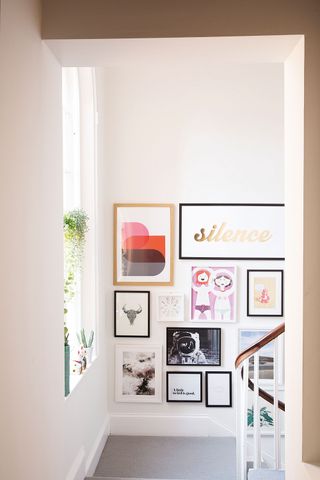
[[[234,432],[206,415],[118,415],[110,416],[111,435],[230,437]]]

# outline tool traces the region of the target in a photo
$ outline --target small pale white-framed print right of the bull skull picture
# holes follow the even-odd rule
[[[161,292],[156,295],[156,312],[158,322],[183,322],[184,294]]]

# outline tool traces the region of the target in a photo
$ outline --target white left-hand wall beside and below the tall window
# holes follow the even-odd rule
[[[71,480],[107,428],[105,334],[65,401],[61,67],[40,13],[39,0],[1,2],[0,477]]]

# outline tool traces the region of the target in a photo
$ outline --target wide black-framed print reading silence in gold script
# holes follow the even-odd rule
[[[181,203],[179,258],[284,260],[284,204]]]

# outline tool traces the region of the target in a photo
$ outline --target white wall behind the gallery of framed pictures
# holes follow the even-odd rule
[[[159,56],[159,51],[157,54]],[[165,391],[163,403],[157,405],[114,401],[115,343],[153,342],[165,346],[167,325],[158,324],[151,310],[150,339],[113,338],[113,291],[121,288],[112,286],[112,204],[283,202],[283,64],[210,65],[198,59],[196,68],[187,62],[179,65],[171,62],[170,67],[166,67],[163,59],[158,66],[154,63],[150,66],[147,62],[143,64],[141,57],[138,66],[133,64],[131,59],[127,66],[122,63],[98,70],[99,133],[104,147],[101,161],[105,170],[105,214],[109,232],[106,252],[109,258],[107,332],[111,432],[234,433],[234,408],[168,404]],[[183,326],[192,326],[189,322],[190,267],[209,262],[178,260],[178,208],[175,244],[174,288],[185,292]],[[239,321],[221,325],[222,367],[217,370],[233,370],[240,327],[272,328],[277,323],[277,320],[246,317],[246,269],[281,268],[283,264],[233,263],[239,267]],[[156,291],[168,290],[165,287],[145,289],[151,290],[151,297]],[[210,324],[203,324],[206,325]],[[172,370],[172,367],[164,367],[163,390],[166,369]],[[213,422],[204,421],[202,416],[209,416]],[[226,430],[217,425],[223,425]]]

